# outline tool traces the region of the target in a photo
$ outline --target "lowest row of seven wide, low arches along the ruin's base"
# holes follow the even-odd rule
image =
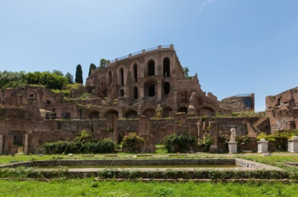
[[[164,107],[162,111],[162,117],[169,117],[169,113],[172,112],[171,107]],[[178,112],[184,112],[187,114],[187,107],[181,106],[178,108]],[[198,110],[198,113],[201,116],[213,116],[215,114],[214,109],[211,107],[202,107]],[[117,117],[119,113],[115,109],[108,109],[103,113],[103,116],[106,117],[108,114],[115,114]],[[142,111],[142,115],[147,117],[154,117],[155,116],[155,109],[154,108],[146,108]],[[96,110],[90,111],[87,114],[89,119],[99,119],[99,112]],[[136,118],[138,116],[138,112],[135,109],[128,109],[124,112],[123,116],[125,118]]]

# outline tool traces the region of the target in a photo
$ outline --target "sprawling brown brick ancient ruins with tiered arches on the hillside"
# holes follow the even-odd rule
[[[198,139],[209,133],[214,138],[210,151],[226,151],[220,136],[230,135],[231,128],[252,138],[261,131],[296,129],[297,89],[266,97],[268,116],[217,117],[253,111],[254,94],[218,101],[201,90],[197,75],[185,77],[173,45],[158,46],[93,69],[85,86],[70,89],[67,96],[36,85],[2,89],[0,154],[16,153],[17,145],[25,154],[35,153],[43,143],[72,140],[81,130],[115,142],[136,132],[148,141],[138,147],[141,152],[155,151],[169,134]],[[87,93],[89,98],[83,96]],[[254,143],[242,147],[255,148]],[[197,146],[192,150],[200,151]]]

